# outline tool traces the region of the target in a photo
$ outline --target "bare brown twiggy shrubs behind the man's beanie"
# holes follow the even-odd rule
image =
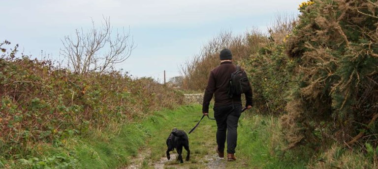
[[[256,51],[261,43],[266,42],[262,33],[253,29],[244,35],[233,36],[231,32],[222,31],[217,37],[205,44],[200,53],[187,61],[181,68],[184,76],[183,88],[202,91],[205,89],[211,69],[220,63],[219,52],[229,48],[235,62],[250,57],[252,50]]]

